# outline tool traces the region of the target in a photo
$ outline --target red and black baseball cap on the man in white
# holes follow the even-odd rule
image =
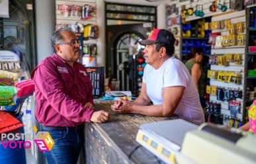
[[[153,29],[147,40],[139,41],[141,45],[153,44],[153,43],[167,43],[170,45],[174,45],[175,37],[171,32],[164,29]]]

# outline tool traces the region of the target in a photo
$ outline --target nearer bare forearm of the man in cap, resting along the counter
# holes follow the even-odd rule
[[[167,117],[174,113],[174,109],[165,109],[163,105],[131,105],[131,113],[147,116]]]

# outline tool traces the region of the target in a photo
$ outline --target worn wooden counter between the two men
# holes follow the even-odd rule
[[[85,124],[85,162],[89,163],[163,163],[136,142],[140,124],[178,119],[179,117],[147,117],[120,115],[110,109],[112,101],[95,103],[95,108],[110,113],[107,123]]]

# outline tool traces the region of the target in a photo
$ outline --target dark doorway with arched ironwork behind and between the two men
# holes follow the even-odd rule
[[[144,49],[138,41],[146,39],[156,28],[156,8],[119,3],[105,3],[105,8],[106,76],[120,81],[120,90],[137,96],[137,59]]]

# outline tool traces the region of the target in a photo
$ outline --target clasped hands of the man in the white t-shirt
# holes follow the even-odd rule
[[[131,113],[131,106],[129,101],[126,99],[120,99],[115,101],[113,105],[111,105],[112,111],[121,114],[128,114]]]

